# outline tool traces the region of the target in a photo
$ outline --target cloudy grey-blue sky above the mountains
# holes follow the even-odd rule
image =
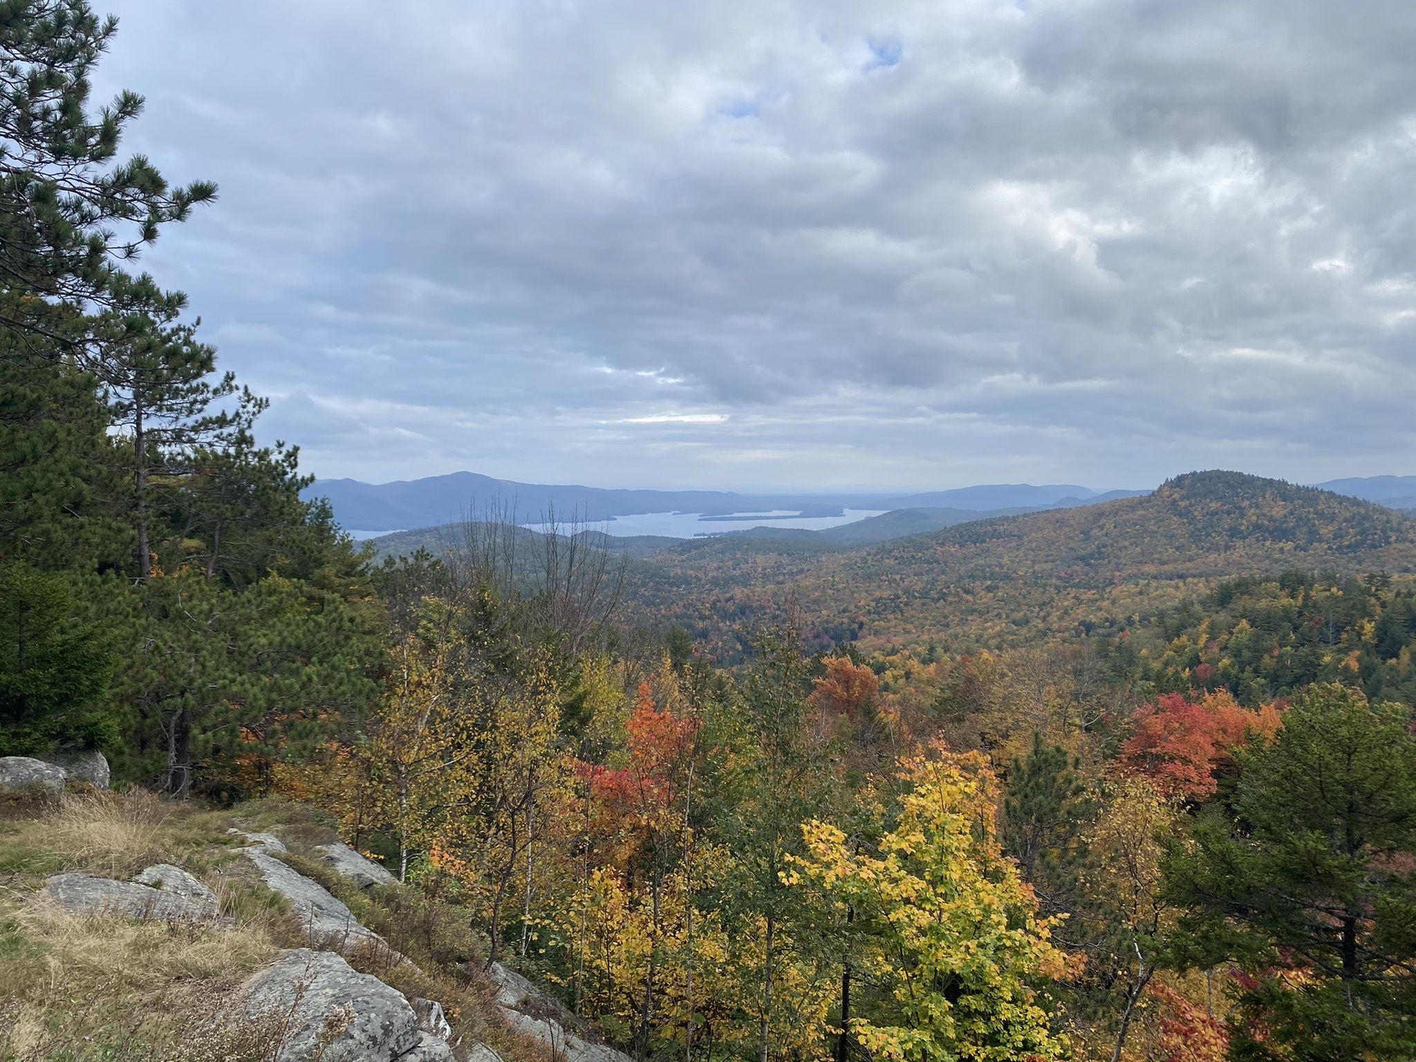
[[[110,0],[320,477],[1416,473],[1410,0]]]

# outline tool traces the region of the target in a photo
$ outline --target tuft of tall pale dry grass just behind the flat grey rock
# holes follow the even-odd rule
[[[45,841],[65,869],[126,878],[166,858],[171,816],[171,804],[152,793],[65,796],[45,818]]]

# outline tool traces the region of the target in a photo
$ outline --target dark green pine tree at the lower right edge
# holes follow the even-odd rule
[[[1232,816],[1211,809],[1167,867],[1185,956],[1243,970],[1236,1056],[1416,1056],[1410,708],[1315,685],[1238,762]]]

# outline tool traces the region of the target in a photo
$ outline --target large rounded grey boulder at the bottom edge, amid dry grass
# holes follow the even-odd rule
[[[280,1015],[287,1034],[275,1062],[452,1062],[452,1049],[418,1028],[408,1000],[377,977],[357,973],[333,952],[285,952],[242,988],[235,1020]],[[329,1031],[337,1029],[333,1038]]]

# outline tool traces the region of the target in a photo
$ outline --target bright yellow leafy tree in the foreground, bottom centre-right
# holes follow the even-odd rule
[[[997,784],[983,756],[899,762],[906,792],[875,851],[811,821],[787,879],[810,882],[854,912],[878,986],[850,1034],[872,1055],[909,1062],[1055,1059],[1035,983],[1059,977],[1051,920],[997,840]]]

